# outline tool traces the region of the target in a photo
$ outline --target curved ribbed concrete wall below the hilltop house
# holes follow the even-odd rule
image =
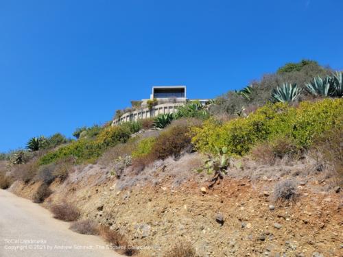
[[[173,113],[178,106],[183,106],[185,103],[163,103],[154,106],[152,110],[142,108],[133,112],[126,112],[119,119],[115,119],[112,125],[118,125],[123,122],[139,121],[140,119],[154,118],[158,114]]]

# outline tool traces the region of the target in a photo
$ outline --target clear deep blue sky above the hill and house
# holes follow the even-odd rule
[[[0,1],[0,151],[104,123],[153,85],[209,98],[302,58],[343,69],[342,0]]]

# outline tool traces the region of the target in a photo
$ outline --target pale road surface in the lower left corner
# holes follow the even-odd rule
[[[38,204],[0,190],[1,257],[121,256],[106,249],[101,238],[72,232],[69,225]]]

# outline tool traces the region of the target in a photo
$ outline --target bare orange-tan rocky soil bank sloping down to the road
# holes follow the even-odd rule
[[[305,169],[303,164],[278,166],[286,175],[225,178],[209,189],[209,177],[191,171],[197,158],[155,164],[129,186],[137,178],[130,168],[117,179],[109,167],[78,167],[65,182],[51,185],[54,193],[44,205],[73,202],[84,217],[126,234],[145,256],[163,256],[178,241],[190,241],[203,257],[343,256],[342,191],[327,190],[321,174],[300,176],[294,201],[275,201],[276,182]],[[38,186],[15,182],[10,190],[31,198]]]

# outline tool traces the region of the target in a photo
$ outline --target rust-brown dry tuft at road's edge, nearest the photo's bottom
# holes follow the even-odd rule
[[[99,228],[99,234],[110,243],[119,254],[134,256],[139,253],[137,249],[134,249],[134,247],[128,243],[128,239],[123,236],[123,234],[111,230],[109,227],[101,226]]]

